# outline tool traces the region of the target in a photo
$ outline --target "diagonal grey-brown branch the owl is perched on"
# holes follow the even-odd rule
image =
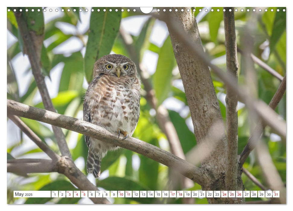
[[[169,166],[170,168],[174,168],[180,172],[180,174],[200,185],[204,184],[205,178],[207,178],[207,175],[205,175],[200,168],[181,158],[178,158],[177,156],[174,156],[171,153],[132,137],[127,138],[127,141],[121,141],[121,139],[119,139],[116,135],[111,134],[104,128],[86,121],[24,105],[13,100],[7,100],[7,113],[42,121],[57,127],[93,137],[106,143],[126,148]]]

